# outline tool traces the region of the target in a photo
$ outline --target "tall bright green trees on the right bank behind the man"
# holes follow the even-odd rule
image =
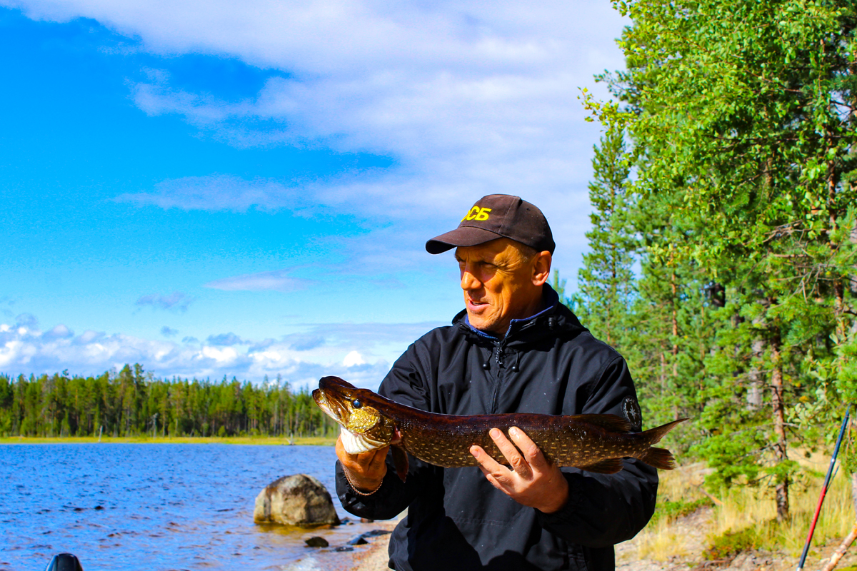
[[[568,304],[629,361],[646,425],[690,417],[709,484],[770,486],[786,519],[794,449],[857,404],[855,4],[614,5],[626,69],[583,93],[603,135]]]

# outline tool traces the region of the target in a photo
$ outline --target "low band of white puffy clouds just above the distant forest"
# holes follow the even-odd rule
[[[192,338],[179,343],[93,330],[74,336],[63,324],[43,333],[0,323],[0,372],[68,369],[89,375],[140,363],[161,377],[261,381],[279,373],[294,386],[311,386],[325,375],[337,375],[377,388],[392,361],[433,325],[308,324],[303,333],[279,340],[249,341],[227,333],[202,343]]]

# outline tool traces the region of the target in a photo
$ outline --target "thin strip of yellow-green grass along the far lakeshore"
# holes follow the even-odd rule
[[[92,444],[99,437],[0,437],[0,444]],[[333,446],[336,437],[294,437],[291,442],[299,445]],[[101,443],[122,444],[289,444],[285,437],[101,437]]]

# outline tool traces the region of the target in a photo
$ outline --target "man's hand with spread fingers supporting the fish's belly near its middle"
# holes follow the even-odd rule
[[[514,501],[545,514],[552,514],[566,504],[568,482],[560,468],[545,460],[542,450],[524,431],[517,426],[509,429],[514,444],[497,428],[492,428],[490,434],[511,469],[495,461],[479,446],[471,446],[470,454],[495,488]]]

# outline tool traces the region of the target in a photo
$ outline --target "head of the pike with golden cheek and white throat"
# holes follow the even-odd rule
[[[383,401],[371,390],[358,389],[339,377],[324,377],[313,391],[313,400],[342,427],[346,449],[360,449],[360,452],[377,449],[397,437],[395,422],[377,407]],[[359,442],[351,443],[351,438]],[[348,450],[351,454],[357,454],[351,449]]]

